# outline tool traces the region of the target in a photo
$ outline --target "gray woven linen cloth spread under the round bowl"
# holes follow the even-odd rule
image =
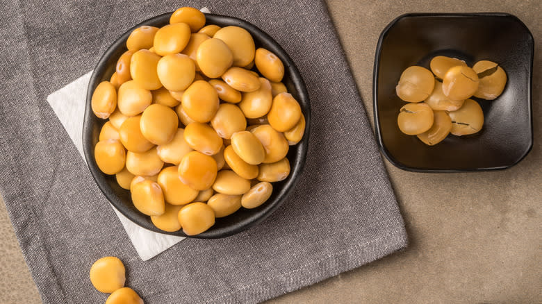
[[[45,99],[126,29],[179,6],[247,19],[286,49],[311,96],[311,142],[295,191],[269,219],[143,262]],[[256,303],[407,245],[325,3],[2,0],[0,12],[0,192],[44,303],[104,303],[88,279],[104,255],[126,264],[145,303]]]

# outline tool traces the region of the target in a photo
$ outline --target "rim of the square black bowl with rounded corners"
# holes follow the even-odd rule
[[[379,125],[379,119],[378,119],[378,67],[379,67],[379,61],[380,61],[380,53],[382,48],[382,41],[384,40],[384,37],[388,34],[389,29],[394,26],[397,22],[399,22],[400,19],[403,19],[405,17],[428,17],[428,16],[434,16],[434,17],[473,17],[473,16],[490,16],[490,17],[508,17],[516,19],[517,22],[519,22],[529,33],[529,36],[531,37],[531,40],[533,41],[532,47],[531,47],[531,58],[530,59],[530,70],[529,70],[529,90],[527,92],[528,94],[528,103],[529,103],[529,120],[531,124],[531,138],[529,142],[529,148],[525,150],[525,153],[516,160],[513,164],[509,164],[507,166],[502,167],[483,167],[483,168],[469,168],[469,169],[422,169],[417,167],[409,167],[405,164],[402,164],[402,162],[399,162],[393,156],[389,153],[388,149],[386,149],[386,146],[384,145],[384,141],[382,139],[381,131],[380,131],[380,125]],[[529,28],[519,19],[518,17],[511,15],[507,12],[438,12],[438,13],[432,13],[432,12],[408,12],[406,14],[400,15],[399,17],[393,19],[392,22],[390,22],[384,30],[380,33],[380,37],[378,38],[377,43],[377,50],[375,52],[375,64],[373,65],[373,71],[372,71],[372,116],[375,122],[375,135],[377,137],[377,143],[380,148],[380,151],[382,151],[382,154],[388,159],[391,164],[393,164],[395,167],[402,169],[404,171],[411,171],[411,172],[421,172],[421,173],[458,173],[458,172],[480,172],[480,171],[495,171],[495,170],[504,170],[509,167],[513,167],[516,164],[518,164],[520,161],[522,161],[527,154],[532,150],[533,142],[534,142],[534,134],[532,132],[533,126],[532,126],[532,67],[533,67],[533,61],[534,61],[534,37],[532,36],[531,31],[529,31]]]

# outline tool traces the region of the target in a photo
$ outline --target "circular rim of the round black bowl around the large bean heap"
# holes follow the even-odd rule
[[[95,122],[92,122],[92,119],[94,119],[94,117],[93,117],[93,113],[90,107],[90,101],[92,99],[92,92],[94,91],[99,81],[101,81],[100,79],[101,76],[104,73],[106,73],[106,69],[107,69],[106,62],[108,61],[108,59],[110,59],[111,56],[113,56],[114,53],[119,52],[119,48],[122,48],[122,44],[126,42],[126,39],[130,35],[131,31],[133,31],[135,28],[138,28],[140,26],[149,25],[149,24],[168,24],[169,17],[171,15],[172,15],[172,12],[167,12],[165,14],[149,18],[145,20],[144,22],[141,22],[140,24],[133,26],[124,34],[122,34],[119,38],[117,38],[117,40],[115,40],[115,42],[113,42],[113,44],[111,44],[110,47],[108,47],[104,55],[101,56],[94,71],[92,72],[92,76],[90,77],[90,82],[88,84],[88,91],[87,91],[86,105],[85,105],[85,118],[83,122],[83,152],[85,154],[85,158],[87,160],[90,173],[92,174],[92,177],[95,179],[101,192],[104,193],[108,201],[110,201],[110,203],[112,203],[113,206],[117,210],[119,210],[122,214],[124,214],[125,217],[127,217],[134,223],[138,224],[138,226],[141,226],[142,228],[146,228],[147,230],[151,230],[155,233],[161,233],[165,235],[176,235],[176,236],[181,236],[181,237],[194,237],[194,238],[199,238],[199,239],[216,239],[216,238],[221,238],[221,237],[228,237],[230,235],[240,233],[243,230],[247,230],[248,228],[256,225],[257,223],[260,223],[261,221],[269,217],[270,214],[274,212],[274,210],[277,210],[277,208],[279,208],[279,206],[282,203],[284,203],[284,201],[288,197],[288,194],[290,194],[291,190],[293,190],[295,184],[297,183],[297,180],[299,180],[299,176],[301,175],[301,172],[304,168],[306,153],[309,148],[309,135],[310,135],[309,130],[310,130],[310,125],[311,125],[311,103],[309,101],[309,93],[306,90],[306,86],[303,81],[303,78],[301,74],[299,73],[299,70],[295,66],[293,60],[290,58],[290,56],[288,56],[288,53],[284,51],[284,49],[280,46],[280,44],[276,42],[270,35],[262,31],[261,29],[259,29],[257,26],[254,26],[254,24],[246,22],[243,19],[206,13],[205,14],[206,21],[208,22],[208,24],[227,24],[230,26],[231,25],[241,26],[245,28],[247,31],[249,31],[249,33],[251,33],[254,37],[257,37],[255,39],[256,41],[261,40],[265,42],[266,44],[268,44],[266,48],[268,48],[270,51],[272,51],[277,56],[279,56],[279,58],[281,58],[282,62],[284,63],[284,67],[287,71],[286,74],[289,74],[290,80],[295,87],[297,100],[299,101],[300,105],[302,105],[302,109],[304,110],[303,115],[306,121],[305,133],[302,138],[302,141],[296,145],[297,149],[295,151],[295,155],[296,155],[295,160],[291,164],[291,167],[292,167],[292,170],[290,171],[291,177],[286,179],[286,183],[284,183],[281,188],[274,189],[274,192],[278,192],[274,200],[267,201],[262,206],[258,207],[258,214],[260,214],[259,216],[249,216],[246,219],[243,219],[242,221],[239,221],[238,223],[236,223],[235,226],[225,226],[222,228],[214,228],[215,226],[213,226],[204,233],[201,233],[199,235],[192,235],[192,236],[186,235],[185,233],[183,233],[182,230],[176,231],[174,233],[168,233],[166,231],[156,228],[154,225],[150,223],[150,221],[140,221],[140,219],[138,219],[138,216],[134,214],[134,211],[131,210],[128,206],[124,205],[124,203],[120,200],[120,198],[114,193],[114,190],[108,185],[108,182],[106,181],[106,175],[103,174],[99,170],[95,162],[94,146],[92,145],[93,135],[92,135],[92,128],[90,125],[90,124],[94,124]],[[115,59],[115,62],[116,62],[116,59]]]

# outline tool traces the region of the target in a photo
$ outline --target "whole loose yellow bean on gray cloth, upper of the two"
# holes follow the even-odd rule
[[[90,267],[90,282],[99,292],[115,292],[126,282],[124,264],[118,257],[101,257]]]

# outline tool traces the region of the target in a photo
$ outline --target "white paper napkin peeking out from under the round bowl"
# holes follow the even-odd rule
[[[201,10],[202,12],[210,12],[207,8],[202,8]],[[51,108],[53,108],[58,119],[60,119],[60,122],[74,142],[77,150],[81,153],[83,160],[85,159],[82,138],[83,115],[85,113],[85,99],[91,75],[92,71],[89,71],[87,74],[47,96],[47,102],[51,105]],[[111,207],[113,207],[113,205],[111,205]],[[119,217],[124,230],[126,230],[126,233],[133,246],[136,248],[141,260],[149,260],[151,257],[162,253],[167,248],[170,248],[184,239],[184,237],[154,233],[133,223],[128,218],[124,217],[117,209],[113,208],[113,210],[115,210],[115,213]]]

